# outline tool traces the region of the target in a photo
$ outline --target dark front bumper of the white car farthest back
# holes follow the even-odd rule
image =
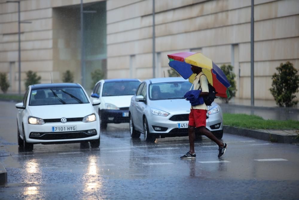
[[[105,123],[126,123],[129,122],[129,108],[112,110],[102,109],[100,110],[101,120]]]

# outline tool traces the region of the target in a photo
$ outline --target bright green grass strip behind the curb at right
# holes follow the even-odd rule
[[[223,113],[223,124],[232,127],[248,129],[299,129],[299,121],[295,120],[265,120],[257,115]]]

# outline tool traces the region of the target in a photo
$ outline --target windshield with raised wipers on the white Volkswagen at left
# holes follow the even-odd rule
[[[82,88],[39,88],[31,90],[29,106],[81,103],[89,103]]]

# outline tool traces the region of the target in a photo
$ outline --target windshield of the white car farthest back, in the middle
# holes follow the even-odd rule
[[[139,81],[106,82],[103,85],[102,97],[134,95],[139,84]]]

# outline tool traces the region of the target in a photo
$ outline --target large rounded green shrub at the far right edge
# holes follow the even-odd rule
[[[289,61],[281,63],[276,70],[278,73],[273,74],[272,88],[269,89],[276,104],[280,107],[297,106],[298,101],[292,100],[299,88],[298,70]]]

